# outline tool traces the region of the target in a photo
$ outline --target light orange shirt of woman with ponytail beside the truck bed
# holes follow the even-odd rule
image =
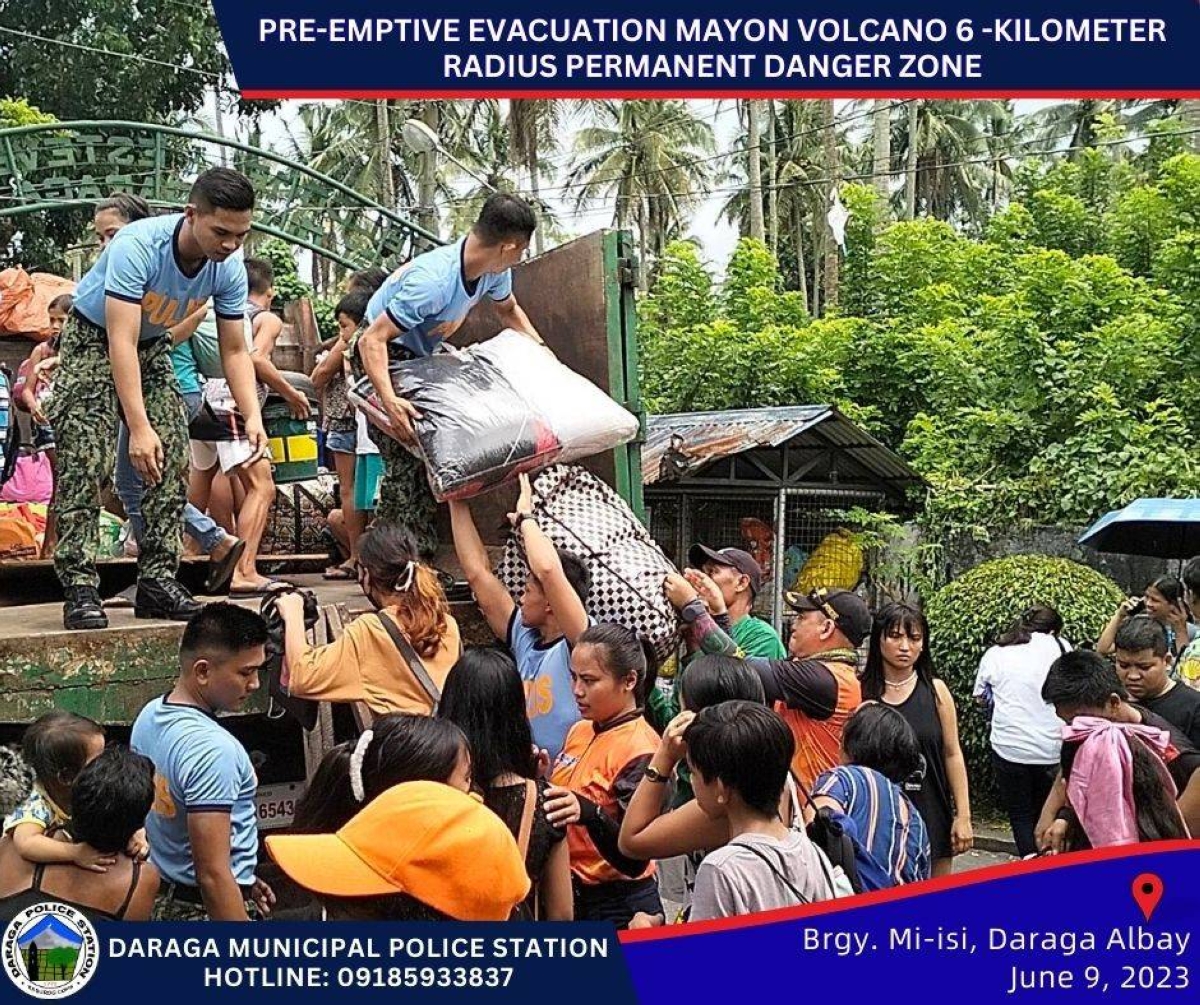
[[[385,608],[379,614],[400,625],[394,608]],[[458,622],[446,615],[446,631],[438,651],[421,657],[439,690],[461,654]],[[373,614],[355,618],[340,639],[310,649],[298,663],[288,664],[288,672],[292,693],[298,698],[365,702],[376,715],[433,714],[428,693]]]

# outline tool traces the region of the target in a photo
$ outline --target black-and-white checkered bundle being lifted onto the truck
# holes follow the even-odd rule
[[[546,469],[533,488],[538,526],[588,567],[588,614],[599,622],[631,628],[654,646],[660,660],[670,656],[678,642],[678,618],[662,592],[662,580],[676,568],[625,500],[572,464]],[[497,574],[514,598],[521,596],[529,567],[515,534]]]

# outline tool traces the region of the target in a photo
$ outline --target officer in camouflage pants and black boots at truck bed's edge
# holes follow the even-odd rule
[[[146,483],[139,541],[138,618],[187,620],[198,604],[175,579],[187,487],[187,423],[168,330],[210,299],[221,357],[246,437],[266,449],[254,369],[242,336],[254,189],[228,168],[202,174],[182,213],[121,228],[79,282],[60,345],[50,421],[58,434],[54,568],[67,628],[103,628],[96,558],[102,483],[112,475],[119,414],[130,461]]]

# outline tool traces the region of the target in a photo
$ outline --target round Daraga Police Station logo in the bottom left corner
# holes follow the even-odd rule
[[[5,928],[4,970],[32,998],[67,998],[96,973],[100,939],[91,922],[67,904],[34,904]]]

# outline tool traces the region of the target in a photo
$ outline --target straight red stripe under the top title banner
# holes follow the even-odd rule
[[[983,90],[983,91],[875,91],[875,90],[346,90],[246,88],[245,101],[346,101],[384,98],[440,100],[454,98],[1200,98],[1200,90]]]

